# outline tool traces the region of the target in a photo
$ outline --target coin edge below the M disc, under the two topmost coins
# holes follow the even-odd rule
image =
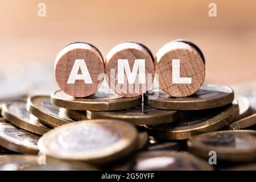
[[[88,119],[121,119],[133,125],[160,125],[177,119],[177,111],[161,110],[148,106],[118,111],[87,111]]]

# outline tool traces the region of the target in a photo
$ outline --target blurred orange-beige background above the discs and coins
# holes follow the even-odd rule
[[[46,17],[38,16],[40,2],[46,3]],[[208,16],[210,2],[217,4],[217,17]],[[156,53],[183,38],[202,49],[207,82],[256,80],[255,0],[9,0],[0,2],[0,13],[1,70],[13,63],[53,65],[60,49],[77,40],[106,56],[126,40],[141,41]]]

